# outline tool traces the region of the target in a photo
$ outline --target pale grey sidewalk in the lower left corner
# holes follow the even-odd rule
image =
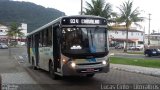
[[[0,55],[0,84],[36,84],[18,61],[7,55],[6,53]]]

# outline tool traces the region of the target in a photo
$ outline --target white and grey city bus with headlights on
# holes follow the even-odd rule
[[[27,35],[28,62],[62,76],[93,77],[109,72],[107,20],[99,16],[63,16]]]

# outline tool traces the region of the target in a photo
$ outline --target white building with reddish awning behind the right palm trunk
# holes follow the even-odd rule
[[[126,29],[109,30],[110,45],[126,45]],[[144,32],[130,29],[128,31],[128,46],[137,46],[144,44]]]

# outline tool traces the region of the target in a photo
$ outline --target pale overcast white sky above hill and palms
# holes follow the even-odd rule
[[[32,2],[37,5],[42,5],[44,7],[55,8],[66,15],[78,15],[81,11],[81,0],[15,0],[15,1],[27,1]],[[90,2],[91,0],[83,0],[83,7],[86,7],[86,1]],[[117,7],[122,5],[123,2],[128,0],[105,0],[107,3],[112,5],[113,11],[118,12]],[[133,9],[139,7],[141,11],[141,16],[145,17],[145,21],[141,22],[141,31],[144,30],[145,33],[148,33],[149,30],[149,13],[151,14],[150,21],[150,33],[153,30],[156,33],[160,33],[160,4],[159,0],[130,0],[133,1]]]

